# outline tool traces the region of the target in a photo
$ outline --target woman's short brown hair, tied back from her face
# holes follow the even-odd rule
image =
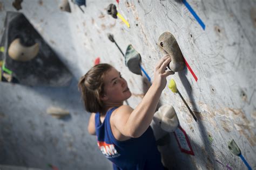
[[[104,105],[100,96],[104,94],[104,77],[112,68],[107,63],[93,66],[84,76],[80,77],[78,89],[82,93],[85,109],[89,112],[103,112]]]

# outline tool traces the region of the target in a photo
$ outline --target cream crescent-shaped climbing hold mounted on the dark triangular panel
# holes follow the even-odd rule
[[[16,38],[11,42],[8,54],[10,58],[16,61],[29,61],[35,58],[39,52],[39,44],[36,43],[30,47],[21,44],[21,39]]]

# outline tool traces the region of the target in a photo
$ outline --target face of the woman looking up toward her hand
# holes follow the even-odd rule
[[[131,96],[127,82],[114,67],[105,75],[104,96],[102,100],[107,104],[123,103]]]

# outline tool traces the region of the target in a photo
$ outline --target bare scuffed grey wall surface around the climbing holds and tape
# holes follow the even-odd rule
[[[10,1],[0,2],[2,35],[5,11],[15,9]],[[228,141],[234,139],[255,169],[256,2],[187,2],[203,20],[205,30],[180,1],[87,1],[87,6],[81,7],[84,12],[70,2],[71,13],[58,9],[60,1],[24,1],[21,12],[75,78],[67,88],[0,83],[0,164],[45,168],[49,162],[60,169],[111,169],[111,164],[100,155],[96,139],[86,132],[89,114],[80,102],[77,80],[100,57],[101,62],[120,70],[132,91],[128,102],[136,107],[149,85],[145,75],[135,75],[127,69],[107,33],[113,34],[123,52],[132,44],[153,79],[154,66],[163,56],[156,45],[158,37],[169,31],[198,81],[187,68],[167,81],[176,81],[198,122],[193,121],[178,94],[166,87],[160,103],[173,105],[195,155],[180,152],[170,133],[170,143],[159,147],[165,165],[178,169],[224,169],[226,165],[244,169],[241,159],[227,148]],[[117,5],[130,29],[122,20],[107,15],[110,3]],[[61,121],[46,115],[50,105],[70,110],[71,118]]]

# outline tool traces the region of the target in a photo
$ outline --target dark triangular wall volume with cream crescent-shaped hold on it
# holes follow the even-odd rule
[[[5,52],[1,53],[4,72],[12,71],[23,85],[69,86],[73,77],[69,69],[23,13],[7,11],[4,27],[0,42],[5,47]]]

